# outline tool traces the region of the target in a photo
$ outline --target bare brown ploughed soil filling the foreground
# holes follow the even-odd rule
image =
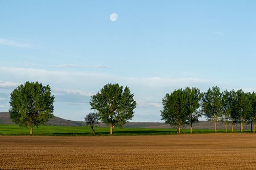
[[[0,169],[254,169],[255,134],[0,136]]]

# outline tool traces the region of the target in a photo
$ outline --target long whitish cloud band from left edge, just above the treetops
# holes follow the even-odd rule
[[[0,74],[7,78],[13,78],[15,81],[39,81],[47,83],[51,87],[60,87],[66,89],[82,90],[86,88],[89,91],[97,92],[107,83],[119,83],[121,86],[128,86],[130,90],[140,90],[155,94],[159,91],[171,92],[177,88],[185,87],[209,87],[221,85],[222,82],[213,82],[208,79],[200,78],[168,78],[168,77],[142,77],[132,78],[117,76],[106,73],[82,73],[71,71],[48,71],[44,69],[24,69],[15,67],[1,67]],[[55,84],[55,85],[54,85]],[[16,87],[19,83],[0,82],[0,87]],[[52,86],[53,85],[53,86]],[[68,92],[68,91],[67,91]],[[82,91],[72,91],[73,94],[88,95]]]

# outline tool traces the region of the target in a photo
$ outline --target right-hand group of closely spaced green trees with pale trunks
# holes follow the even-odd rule
[[[180,133],[180,126],[192,125],[199,121],[199,117],[205,117],[208,121],[214,121],[217,132],[217,121],[226,125],[240,124],[243,131],[243,124],[251,124],[251,131],[255,133],[256,117],[256,94],[255,92],[220,91],[215,86],[207,92],[201,93],[198,88],[180,88],[171,94],[166,94],[162,100],[162,119],[166,124],[177,126],[177,133]],[[227,131],[227,128],[226,128]]]

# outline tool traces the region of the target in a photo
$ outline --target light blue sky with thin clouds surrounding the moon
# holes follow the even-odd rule
[[[0,1],[0,112],[25,82],[49,84],[57,117],[84,121],[90,96],[129,87],[133,122],[163,122],[185,87],[256,91],[256,1]],[[114,22],[111,14],[117,14]]]

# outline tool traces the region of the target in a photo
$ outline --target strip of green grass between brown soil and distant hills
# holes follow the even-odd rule
[[[110,135],[109,128],[95,127],[96,136]],[[218,133],[225,133],[225,130],[217,130]],[[232,133],[231,130],[228,130]],[[236,133],[240,132],[238,130]],[[249,133],[250,131],[244,131]],[[181,133],[189,134],[190,129],[181,129]],[[214,130],[193,130],[193,133],[215,133]],[[146,128],[114,128],[113,135],[170,135],[176,134],[176,129],[146,129]],[[0,125],[0,135],[30,135],[30,129],[19,128],[18,125]],[[39,126],[33,128],[33,135],[49,136],[94,136],[92,129],[88,126]]]

